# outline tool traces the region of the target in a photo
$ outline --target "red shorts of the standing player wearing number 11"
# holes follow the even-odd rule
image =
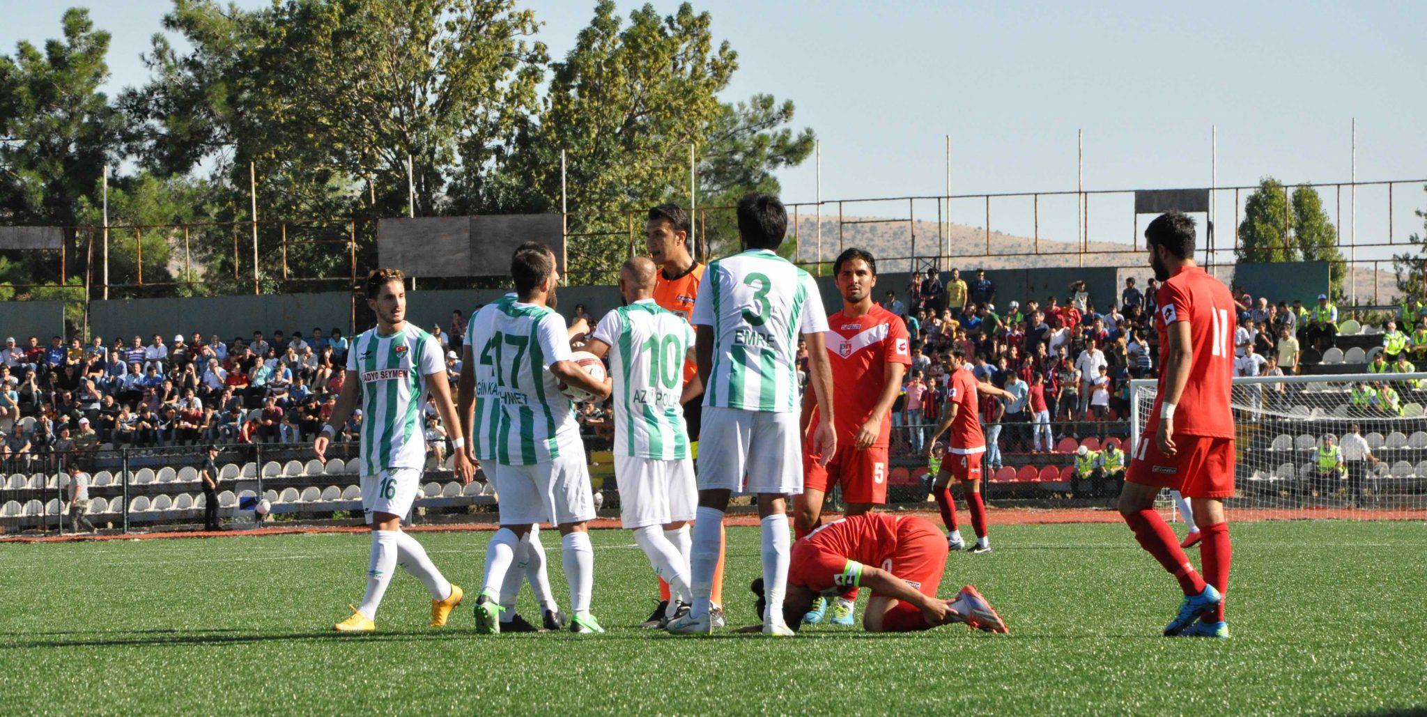
[[[1159,450],[1154,434],[1140,436],[1126,483],[1177,490],[1186,498],[1229,498],[1234,494],[1234,440],[1174,436],[1174,457]]]

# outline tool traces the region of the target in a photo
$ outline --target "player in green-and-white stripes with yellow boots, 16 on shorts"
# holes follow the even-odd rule
[[[451,584],[427,557],[417,538],[401,531],[401,517],[411,511],[427,464],[421,406],[427,391],[435,397],[441,421],[455,446],[455,474],[471,483],[475,471],[465,456],[461,421],[451,406],[441,344],[431,334],[407,323],[405,276],[395,269],[378,269],[367,277],[367,306],[377,314],[377,327],[352,339],[347,351],[347,377],[337,406],[323,426],[313,451],[327,463],[327,446],[340,426],[347,424],[361,401],[361,507],[371,526],[371,560],[367,564],[367,593],[351,617],[334,627],[342,633],[377,628],[377,607],[400,564],[431,593],[431,627],[444,627],[451,610],[461,604],[461,588]]]

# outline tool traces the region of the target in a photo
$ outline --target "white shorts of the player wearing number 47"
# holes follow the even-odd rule
[[[497,464],[495,491],[502,526],[564,526],[595,518],[595,497],[581,444],[545,463]]]

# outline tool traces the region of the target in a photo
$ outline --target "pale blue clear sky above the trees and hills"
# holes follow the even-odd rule
[[[57,36],[66,4],[0,0],[0,51]],[[168,1],[77,4],[114,36],[113,87],[143,83],[138,54]],[[559,57],[594,1],[529,6]],[[628,11],[635,3],[619,6]],[[654,6],[669,13],[678,4]],[[953,193],[1073,190],[1077,129],[1086,133],[1085,184],[1093,190],[1207,186],[1212,124],[1220,186],[1263,174],[1346,181],[1354,116],[1360,180],[1427,177],[1427,50],[1411,3],[705,0],[695,7],[712,13],[716,37],[739,53],[726,97],[792,99],[798,126],[818,131],[823,199],[940,194],[946,134]],[[812,161],[781,180],[789,201],[816,194]],[[1331,213],[1331,191],[1324,199]],[[1120,206],[1127,199],[1093,201],[1100,204],[1092,206],[1092,236],[1129,241],[1133,227]],[[997,201],[992,226],[1029,233],[1023,204]],[[1059,220],[1060,229],[1043,233],[1065,234],[1075,204],[1055,204],[1046,201],[1042,221]],[[1424,206],[1420,184],[1396,190],[1397,240],[1421,230],[1411,211]],[[1227,194],[1220,207],[1227,229]],[[1360,190],[1359,207],[1360,240],[1386,240],[1386,191]],[[906,203],[858,213],[905,216]],[[935,219],[936,204],[916,213]],[[952,213],[983,223],[979,201],[953,203]],[[1344,234],[1347,226],[1344,214]]]

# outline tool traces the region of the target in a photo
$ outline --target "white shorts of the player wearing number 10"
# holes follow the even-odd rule
[[[626,528],[694,520],[699,491],[694,461],[615,456],[619,484],[619,523]]]

